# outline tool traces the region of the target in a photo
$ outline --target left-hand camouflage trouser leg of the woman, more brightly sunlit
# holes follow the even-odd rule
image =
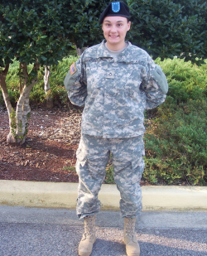
[[[77,215],[82,219],[95,215],[101,206],[98,194],[109,158],[107,139],[82,134],[76,154],[79,175]]]

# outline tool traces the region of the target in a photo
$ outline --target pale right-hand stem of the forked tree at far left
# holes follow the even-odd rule
[[[39,69],[39,65],[35,64],[33,67],[34,70]],[[27,65],[24,63],[22,65],[23,73],[23,88],[22,94],[19,97],[17,102],[16,113],[13,110],[10,114],[10,133],[7,135],[7,143],[15,143],[22,145],[26,140],[28,119],[30,118],[30,105],[29,97],[31,88],[37,83],[37,76],[29,80],[29,75],[27,73]]]

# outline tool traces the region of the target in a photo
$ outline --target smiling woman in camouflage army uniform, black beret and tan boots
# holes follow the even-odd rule
[[[98,193],[110,153],[120,191],[123,239],[128,256],[140,254],[135,221],[142,210],[139,182],[144,170],[144,111],[166,99],[168,85],[161,67],[137,46],[125,42],[131,22],[124,2],[111,2],[99,18],[102,43],[84,51],[65,77],[70,101],[84,105],[76,152],[79,175],[77,215],[84,218],[79,255],[89,256],[95,242]]]

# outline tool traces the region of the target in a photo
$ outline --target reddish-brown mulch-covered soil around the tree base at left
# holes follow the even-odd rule
[[[14,146],[7,144],[8,114],[0,106],[0,180],[78,182],[70,167],[80,138],[79,112],[31,110],[26,142]]]

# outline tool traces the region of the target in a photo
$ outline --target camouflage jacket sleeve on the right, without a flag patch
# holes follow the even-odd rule
[[[146,109],[154,109],[166,99],[168,85],[166,75],[151,57],[148,59],[147,79],[142,83],[142,89],[147,97]]]

